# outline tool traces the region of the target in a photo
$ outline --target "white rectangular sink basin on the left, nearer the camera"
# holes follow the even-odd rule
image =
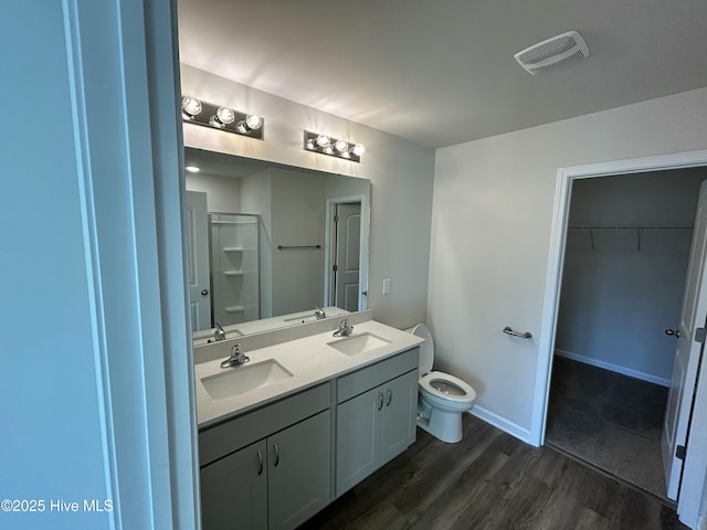
[[[270,359],[223,369],[222,373],[202,378],[201,384],[207,389],[211,400],[221,401],[289,378],[292,373],[277,361]]]

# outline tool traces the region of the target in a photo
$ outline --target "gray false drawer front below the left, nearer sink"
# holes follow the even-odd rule
[[[330,392],[330,383],[320,384],[200,432],[199,465],[204,466],[329,409]]]

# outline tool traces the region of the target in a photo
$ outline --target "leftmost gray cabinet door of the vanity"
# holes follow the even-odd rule
[[[201,468],[204,530],[267,528],[265,451],[258,442]]]

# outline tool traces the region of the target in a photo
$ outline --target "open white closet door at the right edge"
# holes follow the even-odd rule
[[[695,340],[697,328],[706,325],[707,282],[705,266],[707,253],[707,181],[699,190],[699,203],[695,219],[693,248],[690,251],[680,315],[677,352],[673,368],[673,380],[665,410],[663,425],[663,467],[667,497],[676,500],[683,473],[683,459],[676,456],[678,447],[684,447],[692,414],[697,369],[704,344]],[[682,451],[682,449],[680,449]],[[684,456],[683,456],[684,458]]]

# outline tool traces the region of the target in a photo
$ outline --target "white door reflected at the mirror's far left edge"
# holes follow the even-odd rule
[[[209,221],[207,194],[200,191],[187,192],[187,241],[191,330],[199,331],[211,328]]]

